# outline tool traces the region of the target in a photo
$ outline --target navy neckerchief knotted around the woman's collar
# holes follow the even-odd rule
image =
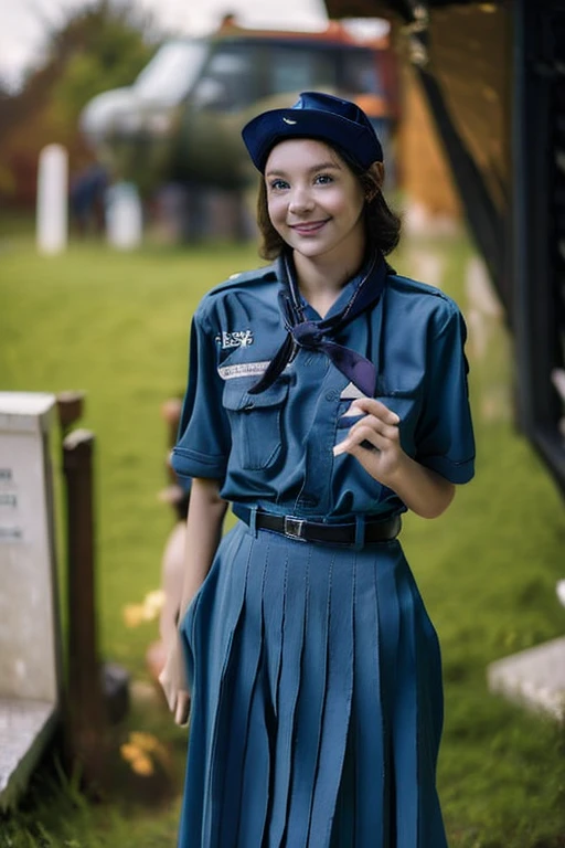
[[[383,254],[380,251],[373,252],[361,268],[358,275],[360,283],[343,309],[330,318],[309,321],[305,318],[303,306],[300,303],[291,257],[289,254],[281,254],[277,259],[277,277],[282,284],[278,300],[287,336],[260,380],[248,390],[248,393],[259,394],[273,385],[297,348],[306,348],[326,353],[335,368],[363,394],[373,398],[376,390],[376,369],[373,363],[351,348],[332,341],[331,337],[380,300],[386,275],[394,273]]]

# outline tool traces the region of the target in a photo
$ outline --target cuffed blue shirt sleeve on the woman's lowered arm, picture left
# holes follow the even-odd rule
[[[202,314],[196,311],[190,333],[186,393],[171,457],[179,477],[225,477],[231,435],[222,391],[214,335],[206,328]]]

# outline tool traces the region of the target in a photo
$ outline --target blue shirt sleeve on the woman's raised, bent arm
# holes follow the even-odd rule
[[[416,459],[451,483],[475,474],[475,437],[465,341],[467,328],[452,306],[429,342],[426,394],[416,428]]]

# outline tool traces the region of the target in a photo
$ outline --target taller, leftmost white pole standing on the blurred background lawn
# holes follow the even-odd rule
[[[38,169],[36,245],[41,253],[61,253],[67,243],[68,155],[62,145],[47,145]]]

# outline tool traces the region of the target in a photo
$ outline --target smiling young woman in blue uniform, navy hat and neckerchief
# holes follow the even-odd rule
[[[472,477],[465,325],[385,262],[399,224],[354,104],[305,93],[243,136],[274,263],[192,326],[161,678],[179,723],[192,697],[179,845],[443,848],[439,649],[397,536]]]

